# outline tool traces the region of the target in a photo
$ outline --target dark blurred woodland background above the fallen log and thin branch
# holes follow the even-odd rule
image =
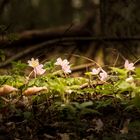
[[[106,35],[139,35],[139,7],[139,0],[1,0],[0,24],[12,31],[49,28],[82,22],[92,12]]]

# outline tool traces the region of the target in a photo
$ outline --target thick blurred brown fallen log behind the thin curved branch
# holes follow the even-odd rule
[[[89,14],[85,22],[81,24],[71,24],[66,26],[54,27],[43,30],[30,30],[22,33],[15,33],[15,39],[10,40],[9,35],[0,36],[0,48],[10,46],[27,46],[42,43],[48,40],[54,40],[65,37],[91,36],[91,23],[94,19],[93,14]]]

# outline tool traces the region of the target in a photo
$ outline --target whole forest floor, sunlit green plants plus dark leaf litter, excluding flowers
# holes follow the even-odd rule
[[[128,73],[116,68],[119,76],[125,77],[123,80],[113,81],[112,76],[111,82],[100,83],[96,78],[99,83],[93,80],[92,85],[87,77],[76,77],[79,73],[73,77],[49,75],[52,65],[46,63],[46,77],[31,78],[26,85],[25,76],[18,75],[24,65],[20,61],[13,65],[11,75],[8,75],[10,72],[0,75],[0,94],[3,85],[18,88],[18,94],[0,96],[0,140],[140,139],[139,68],[132,72],[134,83],[127,83]],[[46,86],[50,91],[23,96],[22,91],[34,86]],[[64,92],[68,93],[64,95]]]

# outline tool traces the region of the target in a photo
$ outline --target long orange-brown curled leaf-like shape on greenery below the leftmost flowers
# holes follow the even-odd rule
[[[29,87],[23,92],[23,95],[26,95],[26,96],[34,95],[41,91],[48,91],[48,88],[47,87],[36,87],[36,86]]]

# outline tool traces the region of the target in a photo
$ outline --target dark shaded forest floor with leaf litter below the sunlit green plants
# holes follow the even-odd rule
[[[1,97],[0,103],[0,140],[140,139],[140,108],[129,98],[87,94],[64,104]]]

